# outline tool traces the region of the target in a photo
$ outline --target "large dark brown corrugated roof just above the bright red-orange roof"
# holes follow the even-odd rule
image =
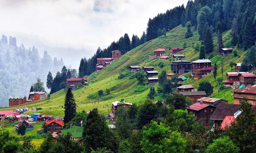
[[[219,104],[211,116],[211,120],[224,120],[226,116],[234,116],[239,110],[236,104]]]

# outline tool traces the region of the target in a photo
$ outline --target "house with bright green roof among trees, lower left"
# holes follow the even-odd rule
[[[70,125],[70,128],[67,130],[60,130],[59,132],[57,132],[56,134],[58,136],[54,137],[57,141],[59,138],[59,135],[66,135],[68,132],[71,133],[70,139],[73,142],[78,141],[79,143],[82,143],[83,137],[82,137],[82,132],[83,132],[83,128],[80,126],[73,126],[72,124]]]

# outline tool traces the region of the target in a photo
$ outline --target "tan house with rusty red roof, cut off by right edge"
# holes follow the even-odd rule
[[[248,87],[232,90],[234,97],[234,104],[240,104],[243,101],[243,97],[247,97],[248,103],[256,105],[256,85],[251,85]]]

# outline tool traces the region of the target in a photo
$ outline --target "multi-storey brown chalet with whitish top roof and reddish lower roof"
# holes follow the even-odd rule
[[[199,59],[192,63],[192,74],[194,79],[199,79],[200,77],[207,76],[211,74],[214,68],[211,66],[211,61],[209,59]]]

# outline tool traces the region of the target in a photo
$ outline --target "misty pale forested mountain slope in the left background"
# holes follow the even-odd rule
[[[24,44],[17,46],[15,37],[3,35],[0,42],[0,102],[2,106],[8,106],[9,96],[28,97],[29,89],[36,78],[44,82],[46,88],[46,78],[49,71],[53,75],[60,71],[65,65],[62,58],[54,59],[43,52],[40,57],[35,46],[25,48]],[[49,92],[49,91],[48,91]]]

